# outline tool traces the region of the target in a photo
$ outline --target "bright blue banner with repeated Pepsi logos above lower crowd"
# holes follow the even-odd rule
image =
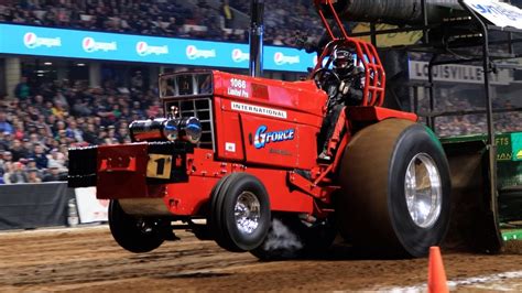
[[[249,46],[174,37],[0,24],[0,53],[159,64],[248,68]],[[267,70],[306,72],[315,54],[264,46]]]

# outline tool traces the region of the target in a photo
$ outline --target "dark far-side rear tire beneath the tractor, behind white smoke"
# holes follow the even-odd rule
[[[337,228],[330,219],[311,225],[297,214],[274,215],[263,243],[250,251],[264,261],[320,257],[334,242]]]

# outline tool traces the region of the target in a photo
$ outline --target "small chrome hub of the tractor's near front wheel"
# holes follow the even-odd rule
[[[241,193],[233,207],[233,215],[238,230],[252,234],[258,228],[261,218],[258,197],[250,192]]]

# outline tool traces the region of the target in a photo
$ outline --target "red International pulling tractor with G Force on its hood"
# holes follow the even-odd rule
[[[69,186],[110,199],[122,248],[151,251],[177,239],[176,228],[260,259],[324,251],[338,234],[384,257],[422,257],[442,242],[450,182],[441,142],[415,115],[381,107],[376,48],[347,35],[330,1],[315,2],[330,42],[308,80],[164,74],[166,117],[133,121],[132,143],[70,150]],[[363,68],[363,96],[325,142],[323,88],[340,48]],[[329,160],[318,158],[325,143]],[[290,235],[295,241],[280,241]]]

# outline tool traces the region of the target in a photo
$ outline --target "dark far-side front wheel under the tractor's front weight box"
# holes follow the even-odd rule
[[[109,227],[116,242],[131,252],[149,252],[164,241],[160,223],[128,215],[117,199],[109,204]]]

